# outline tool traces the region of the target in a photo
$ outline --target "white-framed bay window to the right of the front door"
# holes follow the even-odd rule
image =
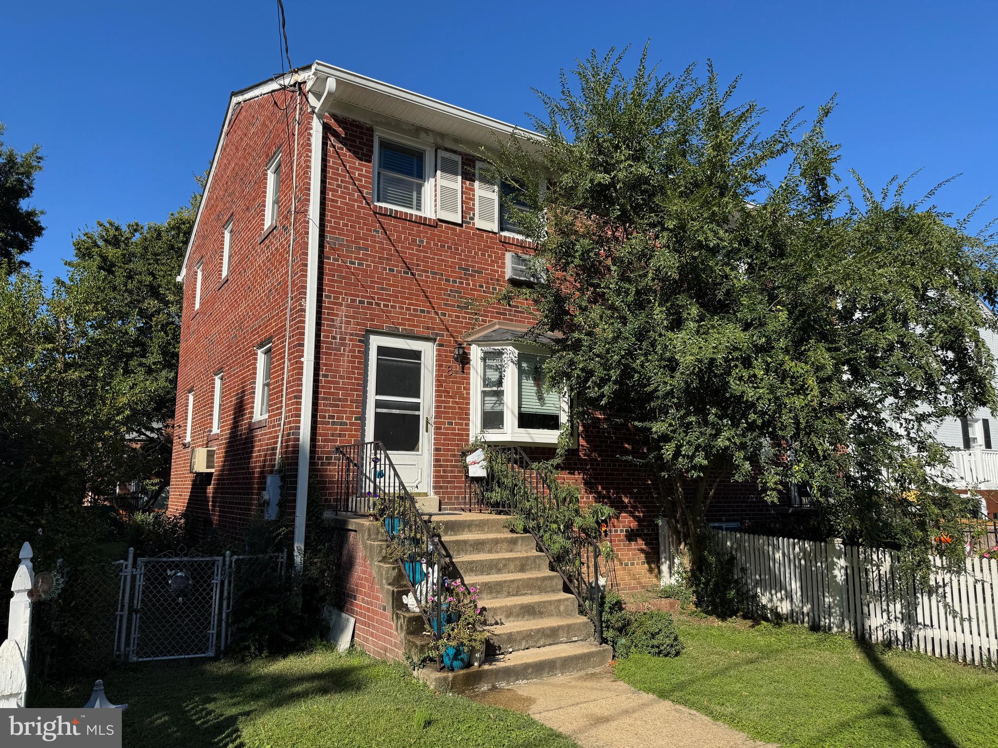
[[[535,346],[473,345],[471,436],[487,442],[556,444],[568,397],[549,386],[548,356]]]

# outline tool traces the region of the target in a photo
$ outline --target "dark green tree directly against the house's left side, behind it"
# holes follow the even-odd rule
[[[73,241],[69,275],[59,282],[81,337],[81,386],[93,389],[93,490],[118,481],[148,483],[155,500],[170,484],[183,287],[177,281],[194,225],[196,200],[166,221],[99,221]]]

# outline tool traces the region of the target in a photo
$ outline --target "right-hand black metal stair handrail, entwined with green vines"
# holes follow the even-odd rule
[[[467,453],[462,453],[462,460]],[[569,518],[578,504],[554,490],[519,447],[490,447],[485,478],[465,475],[469,512],[509,514],[519,518],[552,568],[561,574],[579,606],[593,621],[597,641],[603,641],[600,610],[600,546]],[[575,500],[577,502],[578,500]],[[571,504],[571,506],[570,506]]]

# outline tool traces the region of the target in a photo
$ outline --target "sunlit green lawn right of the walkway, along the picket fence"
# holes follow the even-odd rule
[[[686,648],[617,676],[757,740],[793,746],[998,746],[998,671],[861,647],[801,626],[677,616]]]

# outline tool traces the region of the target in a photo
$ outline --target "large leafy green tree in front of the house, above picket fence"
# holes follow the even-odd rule
[[[503,298],[562,333],[552,381],[577,418],[636,435],[695,572],[728,481],[770,501],[806,485],[837,532],[898,543],[922,571],[930,551],[958,558],[933,539],[970,500],[938,480],[934,428],[998,405],[979,332],[995,328],[990,237],[904,184],[856,177],[853,201],[825,136],[833,102],[803,132],[794,114],[763,134],[737,81],[659,75],[646,56],[630,77],[613,51],[563,72],[540,95],[544,146],[495,159],[548,269]]]

